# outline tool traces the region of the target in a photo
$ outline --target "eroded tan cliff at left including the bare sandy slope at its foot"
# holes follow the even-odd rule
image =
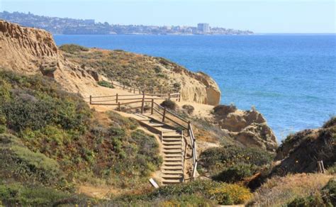
[[[52,35],[45,30],[26,28],[0,20],[0,69],[25,74],[43,74],[56,79],[68,91],[84,92],[96,84],[95,72],[65,60]]]

